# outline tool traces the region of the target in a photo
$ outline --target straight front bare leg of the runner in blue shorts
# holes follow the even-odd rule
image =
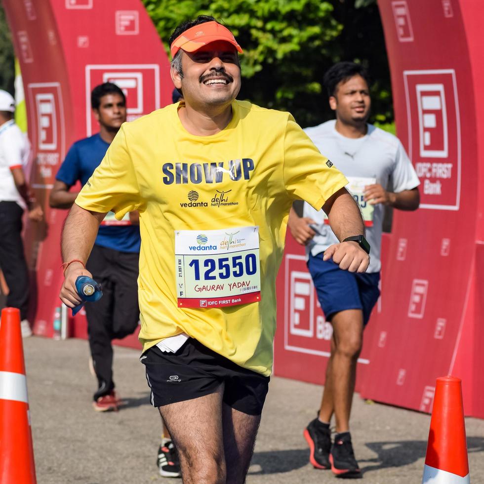
[[[356,365],[363,342],[363,313],[348,309],[336,313],[333,325],[334,352],[331,361],[331,385],[336,432],[349,430]]]

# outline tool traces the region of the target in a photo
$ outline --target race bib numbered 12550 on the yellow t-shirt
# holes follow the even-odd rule
[[[259,227],[175,231],[180,308],[260,301]]]

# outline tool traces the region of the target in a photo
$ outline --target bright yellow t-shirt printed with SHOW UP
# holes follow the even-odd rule
[[[229,360],[270,375],[276,276],[291,204],[305,200],[319,210],[348,181],[289,113],[234,101],[225,129],[194,136],[182,126],[178,106],[123,124],[76,203],[95,212],[113,210],[118,220],[140,212],[143,351],[185,332]],[[210,163],[223,169],[211,170]],[[210,203],[219,192],[226,202]],[[260,302],[179,308],[175,231],[247,226],[259,226]]]

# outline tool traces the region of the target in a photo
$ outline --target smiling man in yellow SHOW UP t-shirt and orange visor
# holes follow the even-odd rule
[[[364,272],[363,220],[346,178],[288,113],[236,101],[241,47],[213,17],[170,38],[184,102],[123,124],[81,190],[62,240],[60,297],[108,210],[140,213],[142,363],[187,483],[243,483],[272,371],[276,275],[296,199],[323,208],[326,250]],[[359,242],[344,242],[346,238]]]

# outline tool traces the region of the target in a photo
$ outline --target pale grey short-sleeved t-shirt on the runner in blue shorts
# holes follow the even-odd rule
[[[336,121],[326,121],[319,126],[306,128],[304,131],[311,138],[320,152],[331,160],[336,168],[347,177],[374,178],[387,190],[389,181],[393,182],[393,191],[398,193],[411,190],[420,184],[405,149],[400,140],[372,124],[362,138],[347,138],[335,129]],[[311,205],[304,203],[304,217],[311,217],[318,222],[318,232],[306,245],[306,253],[319,254],[331,244],[338,243],[329,225],[324,223],[323,210],[317,212]],[[366,272],[378,272],[381,268],[381,234],[383,223],[383,205],[375,205],[373,226],[366,227],[366,240],[371,246],[370,265]]]

